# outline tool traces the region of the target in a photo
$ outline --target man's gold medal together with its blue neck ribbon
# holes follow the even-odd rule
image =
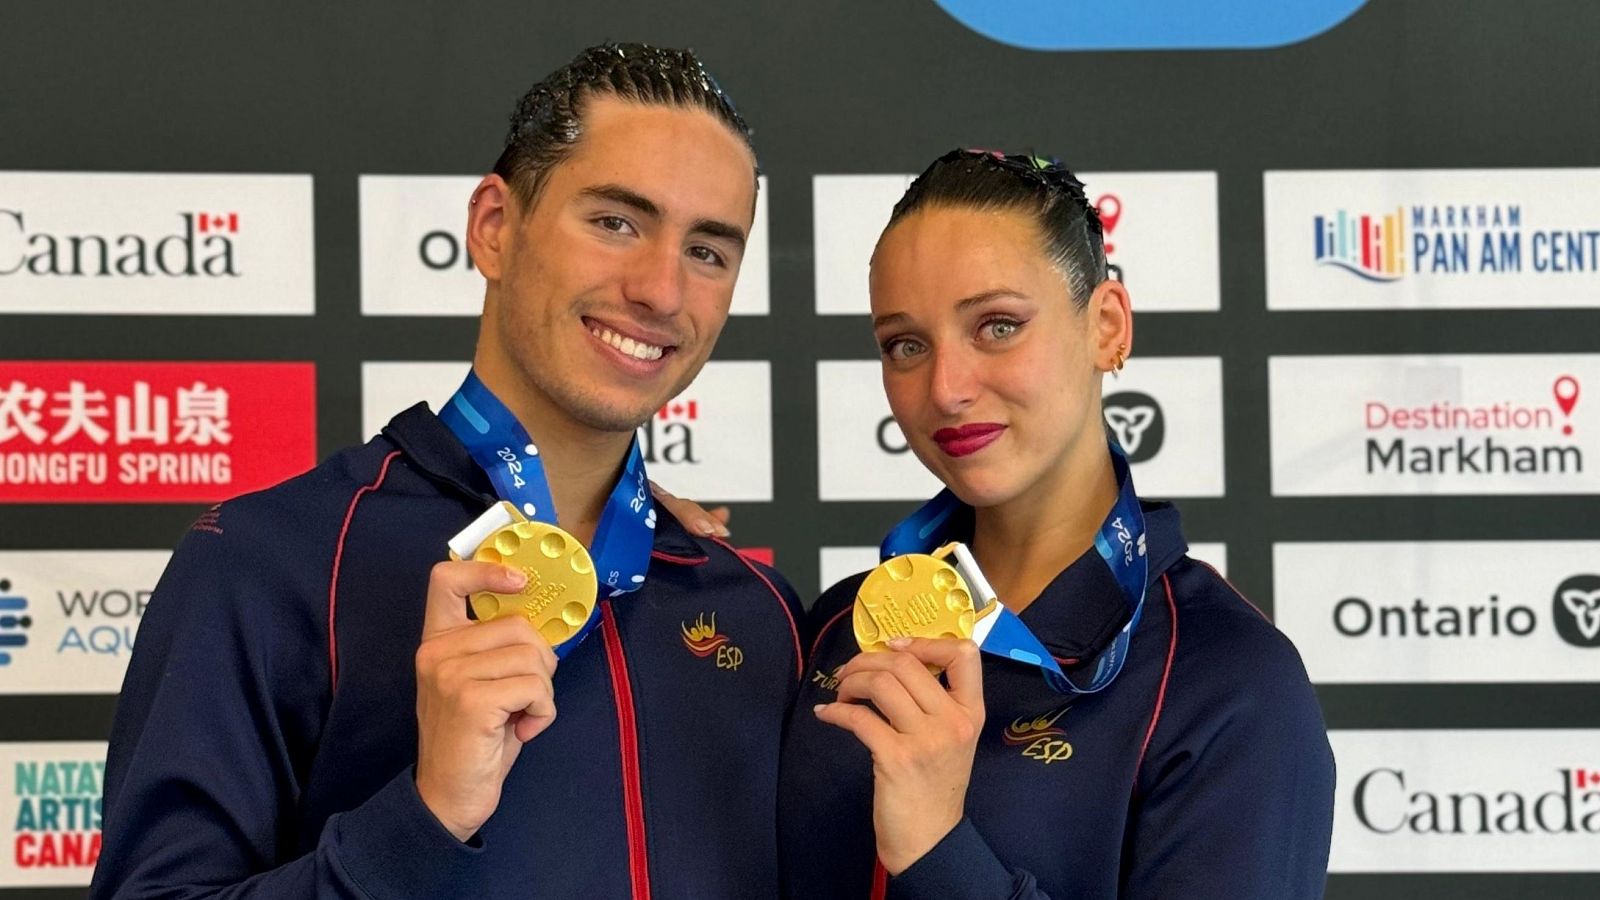
[[[539,461],[539,450],[528,431],[478,380],[477,372],[467,372],[466,381],[438,412],[438,418],[494,484],[502,506],[525,517],[490,535],[475,557],[504,556],[506,564],[528,572],[528,588],[522,596],[490,594],[485,599],[474,594],[474,610],[480,612],[478,618],[486,618],[482,615],[483,609],[494,610],[501,605],[504,613],[523,612],[534,623],[534,613],[557,601],[560,605],[549,610],[554,615],[546,617],[546,626],[534,623],[534,628],[550,641],[557,658],[565,658],[598,625],[600,591],[616,597],[645,586],[650,549],[654,544],[656,508],[638,437],[629,445],[627,466],[600,514],[590,559],[582,541],[563,532],[557,522],[544,463]],[[512,559],[517,551],[522,556]],[[538,565],[525,565],[526,560]],[[542,580],[546,573],[554,573],[554,578]],[[563,596],[570,588],[589,596]],[[488,618],[493,615],[502,613],[491,613]]]

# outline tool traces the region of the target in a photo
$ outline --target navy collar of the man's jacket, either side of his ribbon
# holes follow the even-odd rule
[[[438,421],[438,416],[427,408],[427,404],[416,404],[389,420],[389,424],[384,426],[384,437],[392,440],[418,471],[434,482],[453,488],[464,500],[483,508],[498,503],[499,498],[494,495],[490,477],[472,461],[472,455],[450,431],[450,426]],[[656,533],[651,554],[656,559],[690,565],[707,559],[706,551],[694,541],[688,528],[659,503],[656,504]]]

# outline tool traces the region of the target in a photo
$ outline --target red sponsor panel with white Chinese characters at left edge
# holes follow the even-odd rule
[[[0,503],[211,503],[315,460],[309,362],[0,362]]]

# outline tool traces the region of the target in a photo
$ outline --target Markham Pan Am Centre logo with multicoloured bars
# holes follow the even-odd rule
[[[1600,271],[1600,227],[1539,227],[1520,203],[1397,205],[1312,216],[1312,258],[1371,282],[1408,274]]]

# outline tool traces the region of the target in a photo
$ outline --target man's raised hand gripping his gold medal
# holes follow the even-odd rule
[[[466,841],[499,806],[506,773],[555,721],[555,652],[520,615],[472,623],[467,596],[515,593],[526,577],[490,562],[440,562],[427,580],[416,650],[416,790]]]

